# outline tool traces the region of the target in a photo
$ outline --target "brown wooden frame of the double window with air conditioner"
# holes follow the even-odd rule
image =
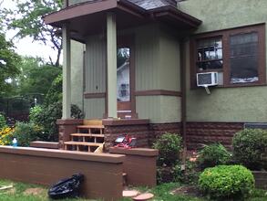
[[[259,80],[248,83],[231,83],[231,64],[230,64],[230,37],[239,34],[249,34],[252,32],[258,33],[258,75]],[[201,72],[222,72],[223,85],[218,87],[245,87],[245,86],[259,86],[266,84],[266,40],[265,40],[265,24],[258,24],[252,26],[241,26],[231,29],[223,29],[219,31],[212,31],[203,34],[197,34],[190,37],[190,88],[197,88],[196,74],[199,72],[197,69],[197,43],[200,39],[209,39],[214,37],[221,37],[222,41],[222,69],[207,69]]]

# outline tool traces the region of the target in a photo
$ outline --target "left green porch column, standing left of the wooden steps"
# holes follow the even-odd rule
[[[62,119],[70,119],[71,107],[71,87],[70,87],[70,36],[67,24],[62,27],[62,45],[63,45],[63,108]]]

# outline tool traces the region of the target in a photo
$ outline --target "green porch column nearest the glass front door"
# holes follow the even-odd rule
[[[108,117],[117,118],[117,27],[116,16],[107,15]]]

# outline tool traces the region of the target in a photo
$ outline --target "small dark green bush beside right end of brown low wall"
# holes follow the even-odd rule
[[[174,133],[162,134],[153,148],[159,150],[158,165],[175,165],[179,161],[182,148],[182,139],[180,135]]]

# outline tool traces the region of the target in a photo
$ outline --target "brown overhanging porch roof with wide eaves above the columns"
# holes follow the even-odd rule
[[[46,24],[56,27],[67,23],[71,36],[82,42],[88,35],[103,33],[106,30],[108,12],[116,13],[118,30],[149,22],[164,23],[183,30],[196,28],[201,24],[199,19],[172,5],[148,9],[134,4],[132,0],[87,1],[46,15],[44,20]]]

